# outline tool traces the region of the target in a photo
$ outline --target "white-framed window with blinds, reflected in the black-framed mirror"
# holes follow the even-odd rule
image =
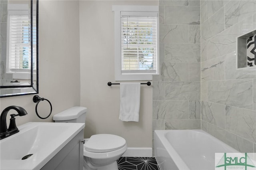
[[[18,10],[17,10],[18,9]],[[31,27],[28,5],[8,4],[7,73],[31,70]],[[36,66],[33,65],[35,68]]]

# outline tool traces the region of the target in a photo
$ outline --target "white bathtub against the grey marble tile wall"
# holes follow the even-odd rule
[[[162,170],[214,170],[215,153],[238,152],[203,130],[155,130],[154,155]]]

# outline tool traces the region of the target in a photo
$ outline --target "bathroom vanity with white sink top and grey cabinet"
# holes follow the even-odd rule
[[[82,170],[84,123],[30,122],[0,140],[1,170]]]

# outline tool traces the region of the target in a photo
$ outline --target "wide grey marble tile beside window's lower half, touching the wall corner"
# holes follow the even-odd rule
[[[165,61],[200,63],[200,44],[166,44]]]

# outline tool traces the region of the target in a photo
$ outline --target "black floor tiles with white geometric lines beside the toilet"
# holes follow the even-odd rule
[[[161,170],[155,157],[121,157],[118,170]]]

